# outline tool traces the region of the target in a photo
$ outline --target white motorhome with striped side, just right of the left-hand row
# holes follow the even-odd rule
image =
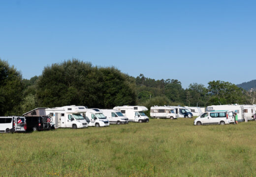
[[[150,117],[152,118],[178,118],[174,108],[169,106],[152,106],[150,108]]]

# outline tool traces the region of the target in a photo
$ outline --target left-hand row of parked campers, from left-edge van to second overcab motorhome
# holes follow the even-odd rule
[[[85,106],[36,108],[22,117],[0,117],[0,132],[24,132],[54,128],[86,128],[148,122],[144,106],[117,106],[113,109],[88,109]]]

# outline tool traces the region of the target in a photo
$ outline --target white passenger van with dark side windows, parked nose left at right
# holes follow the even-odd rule
[[[232,111],[211,111],[205,112],[194,119],[194,125],[228,124],[234,122]]]

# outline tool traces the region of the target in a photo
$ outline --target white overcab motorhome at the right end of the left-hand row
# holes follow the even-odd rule
[[[133,122],[149,122],[149,118],[145,115],[148,109],[145,106],[116,106],[113,109],[119,110],[129,121]]]

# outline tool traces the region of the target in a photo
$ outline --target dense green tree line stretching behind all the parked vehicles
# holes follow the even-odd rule
[[[224,81],[208,87],[193,83],[187,89],[175,79],[132,77],[115,67],[93,66],[71,59],[44,67],[30,80],[0,59],[0,116],[22,115],[36,107],[84,105],[113,108],[121,105],[207,106],[255,104],[256,91],[246,91]]]

